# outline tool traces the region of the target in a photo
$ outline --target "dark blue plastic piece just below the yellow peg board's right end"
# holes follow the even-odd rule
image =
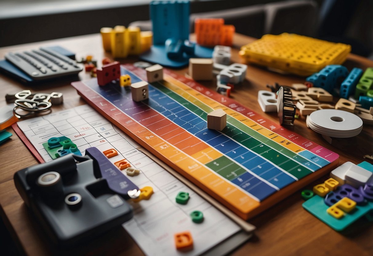
[[[328,91],[333,92],[333,89],[338,85],[340,78],[346,78],[348,70],[342,65],[327,65],[318,73],[311,75],[306,78],[308,83],[313,84],[314,87],[320,87]]]

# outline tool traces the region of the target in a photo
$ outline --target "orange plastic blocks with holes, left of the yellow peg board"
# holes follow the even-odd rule
[[[197,44],[204,46],[232,46],[235,27],[224,25],[224,19],[195,19]]]

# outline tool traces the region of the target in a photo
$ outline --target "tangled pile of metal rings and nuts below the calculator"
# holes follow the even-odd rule
[[[18,118],[23,118],[30,115],[35,115],[41,112],[51,111],[51,106],[61,104],[63,102],[62,93],[35,93],[30,90],[23,90],[14,95],[7,94],[8,102],[15,103],[13,114]],[[26,113],[23,113],[24,110]]]

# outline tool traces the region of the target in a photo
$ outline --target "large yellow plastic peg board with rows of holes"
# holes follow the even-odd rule
[[[247,63],[309,76],[327,65],[342,64],[350,51],[348,44],[283,33],[263,35],[261,39],[242,46],[239,54]]]

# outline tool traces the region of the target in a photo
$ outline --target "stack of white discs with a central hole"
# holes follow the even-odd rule
[[[363,129],[360,117],[337,109],[322,109],[311,113],[307,125],[320,134],[336,138],[354,137]]]

